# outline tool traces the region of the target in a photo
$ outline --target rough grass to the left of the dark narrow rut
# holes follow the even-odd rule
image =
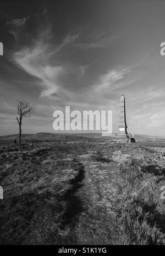
[[[64,145],[2,150],[1,244],[62,243],[69,203],[65,197],[80,175],[81,164],[63,160],[69,151]]]

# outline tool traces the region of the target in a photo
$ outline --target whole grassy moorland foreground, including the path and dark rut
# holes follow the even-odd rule
[[[164,244],[163,148],[1,147],[1,244]]]

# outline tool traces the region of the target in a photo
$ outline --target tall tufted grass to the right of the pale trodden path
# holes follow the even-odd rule
[[[118,185],[124,195],[118,202],[120,244],[165,243],[163,184],[164,176],[144,173],[134,159],[120,165]]]

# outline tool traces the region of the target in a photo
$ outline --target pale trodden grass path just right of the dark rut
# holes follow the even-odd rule
[[[116,203],[120,191],[117,187],[117,163],[91,160],[94,151],[78,156],[84,166],[84,178],[77,184],[70,236],[75,244],[114,244],[117,237]],[[69,199],[70,200],[70,199]],[[76,203],[78,203],[76,205]],[[74,210],[72,210],[72,213]]]

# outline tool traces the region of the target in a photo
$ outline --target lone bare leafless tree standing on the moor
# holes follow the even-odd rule
[[[30,106],[30,102],[19,101],[17,108],[18,108],[19,117],[16,117],[16,120],[18,121],[18,124],[19,124],[19,144],[20,144],[22,119],[23,117],[30,117],[31,114],[34,113],[35,107]]]

